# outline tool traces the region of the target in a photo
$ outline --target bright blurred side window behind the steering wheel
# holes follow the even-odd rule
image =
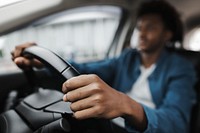
[[[105,58],[121,17],[113,6],[70,9],[42,18],[29,27],[0,37],[0,56],[10,58],[15,45],[36,42],[77,62]]]

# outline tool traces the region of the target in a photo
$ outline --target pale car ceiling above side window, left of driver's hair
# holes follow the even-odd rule
[[[133,3],[137,3],[137,1],[139,0],[135,0]],[[35,19],[51,13],[73,7],[106,4],[129,9],[131,8],[130,3],[132,3],[130,0],[26,0],[0,8],[0,34],[32,23]]]

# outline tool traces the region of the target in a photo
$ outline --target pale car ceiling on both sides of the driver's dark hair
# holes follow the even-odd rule
[[[174,5],[180,12],[181,18],[187,26],[187,30],[199,25],[200,0],[167,1]],[[135,9],[135,6],[140,2],[142,0],[26,0],[0,8],[0,34],[5,34],[19,26],[31,23],[35,19],[68,8],[92,4],[107,4],[121,6],[131,10]]]

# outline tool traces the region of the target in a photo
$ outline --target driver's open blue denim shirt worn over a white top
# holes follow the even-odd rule
[[[72,65],[81,73],[97,74],[113,88],[126,93],[140,75],[141,62],[137,50],[127,49],[117,58]],[[156,109],[142,105],[148,120],[145,132],[188,132],[196,81],[191,63],[164,50],[148,81]],[[137,132],[126,120],[125,125],[128,132]]]

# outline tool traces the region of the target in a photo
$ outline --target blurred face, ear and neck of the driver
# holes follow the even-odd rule
[[[149,67],[156,62],[165,43],[172,37],[172,33],[165,29],[158,15],[145,15],[137,23],[139,31],[138,49],[143,66]]]

